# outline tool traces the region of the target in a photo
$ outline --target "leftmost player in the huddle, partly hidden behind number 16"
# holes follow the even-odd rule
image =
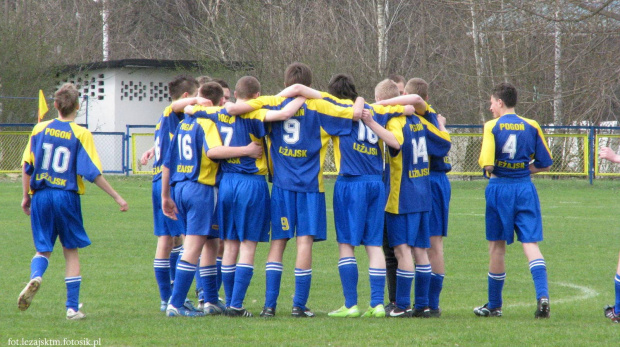
[[[168,83],[168,90],[174,103],[177,100],[194,96],[198,86],[198,81],[193,77],[179,75]],[[172,294],[171,279],[174,280],[175,278],[176,265],[182,249],[180,236],[183,234],[184,226],[181,221],[166,218],[162,212],[161,168],[164,156],[170,147],[170,140],[183,118],[183,112],[175,112],[172,105],[167,106],[155,126],[155,146],[145,152],[141,159],[146,164],[151,152],[155,157],[151,200],[153,203],[153,224],[154,234],[157,236],[157,248],[155,250],[153,268],[155,269],[155,279],[159,287],[160,311],[162,312],[166,311],[168,300]],[[174,192],[171,194],[174,196]],[[177,244],[174,244],[175,238]]]

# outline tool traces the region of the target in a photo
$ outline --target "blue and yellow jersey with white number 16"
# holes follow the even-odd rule
[[[170,184],[192,181],[215,186],[219,164],[209,159],[207,152],[221,145],[222,140],[213,121],[185,118],[179,124],[164,158],[163,165],[170,169]]]

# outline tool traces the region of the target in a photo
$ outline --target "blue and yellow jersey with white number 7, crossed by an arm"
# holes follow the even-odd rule
[[[217,130],[224,146],[243,147],[256,142],[263,144],[265,115],[268,110],[256,110],[240,116],[230,115],[223,107],[194,106],[194,117],[211,119],[217,124]],[[222,173],[267,174],[267,159],[251,157],[229,158],[220,161]]]

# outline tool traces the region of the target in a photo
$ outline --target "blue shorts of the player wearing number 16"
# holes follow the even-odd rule
[[[216,188],[192,181],[178,182],[174,188],[174,202],[179,210],[178,217],[185,225],[185,235],[219,238],[219,232],[212,228]]]

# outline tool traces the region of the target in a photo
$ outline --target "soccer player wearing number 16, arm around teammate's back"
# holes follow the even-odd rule
[[[219,85],[217,87],[221,98],[223,91]],[[215,123],[196,117],[187,117],[181,122],[172,144],[162,166],[162,210],[172,219],[177,219],[178,214],[185,225],[186,237],[166,315],[198,317],[221,314],[225,308],[218,303],[215,286],[219,234],[211,227],[216,201],[214,187],[219,169],[214,160],[242,156],[258,158],[262,155],[262,147],[254,142],[245,147],[222,146]],[[171,186],[175,189],[174,200]],[[204,312],[183,306],[199,256],[200,279],[206,302]]]

